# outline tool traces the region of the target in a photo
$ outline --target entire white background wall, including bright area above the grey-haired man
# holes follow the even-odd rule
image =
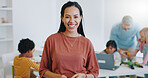
[[[14,45],[29,37],[36,47],[60,25],[60,10],[68,0],[13,0]],[[112,26],[131,15],[141,27],[148,26],[147,0],[75,0],[82,6],[84,31],[96,51],[102,51]]]

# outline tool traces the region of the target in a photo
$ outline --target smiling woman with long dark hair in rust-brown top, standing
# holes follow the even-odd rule
[[[40,77],[98,77],[98,62],[92,43],[83,32],[82,17],[82,8],[77,2],[69,1],[62,6],[59,31],[45,42]]]

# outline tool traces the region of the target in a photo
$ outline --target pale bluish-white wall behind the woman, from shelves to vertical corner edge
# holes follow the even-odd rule
[[[68,0],[15,0],[14,8],[14,45],[20,39],[29,37],[35,41],[37,49],[45,39],[58,31],[60,10]],[[77,0],[84,12],[84,31],[95,50],[100,50],[104,40],[104,1]],[[97,7],[97,8],[96,8]],[[93,20],[93,21],[92,21]]]

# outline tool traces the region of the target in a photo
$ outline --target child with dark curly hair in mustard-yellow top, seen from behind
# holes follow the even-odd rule
[[[39,71],[39,65],[28,58],[34,52],[34,47],[35,44],[32,40],[28,38],[20,40],[18,51],[21,54],[14,58],[15,78],[32,78],[30,77],[31,67]]]

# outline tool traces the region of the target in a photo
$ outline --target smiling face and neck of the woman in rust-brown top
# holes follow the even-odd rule
[[[67,7],[64,11],[64,16],[61,18],[66,27],[66,31],[77,32],[77,28],[82,19],[82,16],[80,16],[80,11],[77,7]]]

